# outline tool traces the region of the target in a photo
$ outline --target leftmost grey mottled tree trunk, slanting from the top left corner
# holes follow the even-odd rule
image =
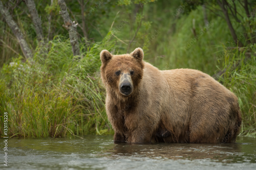
[[[0,1],[0,12],[4,16],[6,23],[18,39],[18,43],[22,52],[26,58],[32,58],[32,51],[29,48],[27,42],[25,41],[24,35],[20,31],[18,25],[14,22],[12,16],[10,15],[9,11],[4,9],[2,1]]]

